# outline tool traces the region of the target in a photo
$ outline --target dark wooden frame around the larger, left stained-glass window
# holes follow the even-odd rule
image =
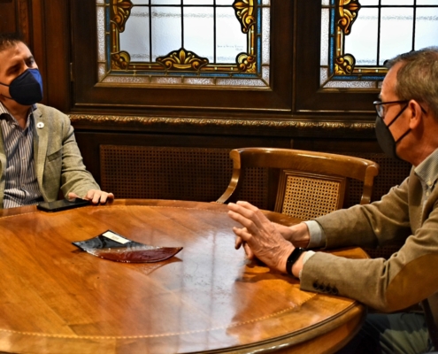
[[[280,4],[280,12],[293,13],[292,2]],[[265,88],[222,88],[222,87],[135,87],[135,85],[115,84],[113,87],[100,87],[97,82],[97,39],[96,39],[96,3],[70,3],[72,20],[73,68],[73,111],[99,109],[128,110],[148,109],[148,112],[174,112],[187,110],[199,112],[227,110],[236,112],[290,112],[292,108],[290,76],[273,71],[270,78],[271,89]],[[74,24],[81,26],[74,26]],[[273,47],[286,48],[293,42],[291,21],[272,22],[271,34]],[[284,33],[286,35],[278,35]],[[79,43],[79,44],[78,44]],[[83,55],[88,53],[88,55]],[[271,65],[291,72],[292,52],[285,51],[280,56],[271,56]],[[281,70],[281,72],[282,72]]]

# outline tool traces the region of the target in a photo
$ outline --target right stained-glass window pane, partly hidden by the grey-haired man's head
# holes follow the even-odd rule
[[[387,59],[438,45],[438,0],[321,0],[320,85],[379,89]]]

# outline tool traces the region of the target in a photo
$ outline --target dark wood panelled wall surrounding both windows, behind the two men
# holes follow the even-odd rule
[[[0,0],[0,31],[24,35],[42,72],[42,103],[73,116],[84,162],[99,183],[103,182],[105,167],[101,168],[101,151],[108,145],[168,150],[170,159],[177,158],[180,152],[187,159],[193,151],[204,151],[205,157],[215,156],[215,164],[209,165],[208,158],[203,160],[196,155],[196,161],[187,160],[179,168],[189,175],[190,166],[196,164],[196,177],[210,175],[213,184],[225,184],[230,177],[229,150],[294,147],[375,159],[382,167],[374,195],[379,198],[390,185],[403,181],[410,166],[389,161],[375,142],[372,102],[377,92],[321,92],[320,3],[273,0],[272,4],[271,92],[214,91],[211,95],[211,90],[198,89],[194,96],[194,90],[147,90],[148,95],[141,95],[144,102],[135,101],[134,106],[127,103],[139,89],[122,92],[120,88],[95,88],[95,1]],[[75,81],[77,78],[88,86],[81,86],[82,81]],[[177,91],[179,95],[175,94]],[[169,104],[177,99],[184,103],[190,97],[201,103],[196,104],[196,109],[189,104],[183,104],[183,109]],[[129,149],[124,153],[129,154]],[[135,162],[134,156],[127,158]],[[163,166],[165,162],[157,168]],[[222,174],[213,177],[215,173]],[[134,178],[128,170],[126,175]],[[111,183],[105,187],[111,188]],[[248,193],[242,191],[242,198],[260,207],[269,206],[269,200],[265,204],[267,184],[265,174],[255,172],[254,186]],[[211,189],[209,196],[190,194],[190,189],[181,188],[181,193],[177,190],[172,197],[210,200],[222,189],[212,187],[216,189]],[[357,187],[350,189],[353,195]],[[121,193],[120,196],[132,196],[128,189]]]

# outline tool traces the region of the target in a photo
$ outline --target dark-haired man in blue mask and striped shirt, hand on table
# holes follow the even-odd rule
[[[59,189],[93,204],[111,200],[85,169],[70,119],[41,100],[27,45],[0,35],[0,208],[54,201]]]

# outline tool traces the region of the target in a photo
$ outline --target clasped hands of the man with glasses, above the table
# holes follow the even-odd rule
[[[228,216],[242,225],[242,227],[233,227],[234,234],[237,236],[235,248],[239,249],[243,246],[248,258],[257,257],[266,266],[282,273],[286,273],[288,256],[295,250],[292,242],[301,242],[305,245],[308,243],[309,235],[305,224],[294,227],[275,224],[269,221],[256,206],[248,202],[230,203],[228,210]],[[303,266],[303,256],[300,259],[301,266],[294,266],[292,269],[296,276]]]

